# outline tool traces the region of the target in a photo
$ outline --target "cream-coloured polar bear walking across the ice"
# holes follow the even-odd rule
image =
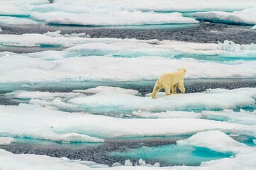
[[[186,74],[186,69],[178,69],[177,72],[162,74],[154,85],[153,92],[151,94],[152,98],[156,98],[156,94],[161,90],[165,89],[166,95],[170,95],[171,91],[176,94],[176,88],[181,91],[182,94],[185,93],[184,88],[184,77]]]

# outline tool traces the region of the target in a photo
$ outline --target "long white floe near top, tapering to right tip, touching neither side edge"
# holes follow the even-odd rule
[[[48,24],[79,26],[126,26],[167,23],[198,23],[193,18],[183,17],[181,13],[154,13],[140,11],[121,11],[118,13],[31,13],[31,17]]]

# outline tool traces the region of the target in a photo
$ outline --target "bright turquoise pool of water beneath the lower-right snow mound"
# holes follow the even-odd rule
[[[201,162],[230,157],[231,153],[220,153],[202,147],[164,145],[159,147],[140,147],[128,149],[126,152],[112,152],[112,157],[160,162],[161,166],[191,165],[198,166]]]

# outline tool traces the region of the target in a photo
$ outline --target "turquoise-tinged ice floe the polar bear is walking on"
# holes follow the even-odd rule
[[[206,118],[245,125],[256,123],[255,111],[252,111],[255,109],[255,88],[211,89],[203,93],[171,96],[159,93],[156,99],[150,95],[134,96],[137,94],[135,90],[111,86],[75,91],[79,93],[13,91],[4,96],[60,111],[90,111],[121,118],[132,114],[139,118]],[[250,111],[239,111],[239,108]]]

